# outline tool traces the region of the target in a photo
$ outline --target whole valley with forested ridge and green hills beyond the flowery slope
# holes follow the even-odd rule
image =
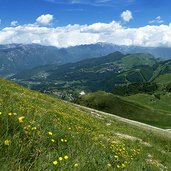
[[[36,67],[10,79],[53,97],[170,129],[170,81],[164,81],[170,63],[150,54],[114,52],[76,63]]]

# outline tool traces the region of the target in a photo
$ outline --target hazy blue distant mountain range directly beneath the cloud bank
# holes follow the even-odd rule
[[[124,54],[150,53],[156,58],[171,58],[171,48],[167,47],[118,46],[97,43],[59,49],[38,44],[9,44],[0,45],[0,75],[9,76],[42,65],[74,63],[105,56],[115,51]]]

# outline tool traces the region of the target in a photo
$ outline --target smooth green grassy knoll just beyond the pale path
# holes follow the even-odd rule
[[[96,92],[80,97],[77,103],[157,127],[171,128],[170,113],[166,114],[142,105],[141,99],[137,99],[139,103],[134,103],[112,94]]]

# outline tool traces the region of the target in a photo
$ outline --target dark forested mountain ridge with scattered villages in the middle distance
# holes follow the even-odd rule
[[[148,81],[153,76],[156,63],[150,54],[114,52],[62,66],[42,66],[16,74],[12,79],[42,91],[59,88],[111,91],[115,85]]]

